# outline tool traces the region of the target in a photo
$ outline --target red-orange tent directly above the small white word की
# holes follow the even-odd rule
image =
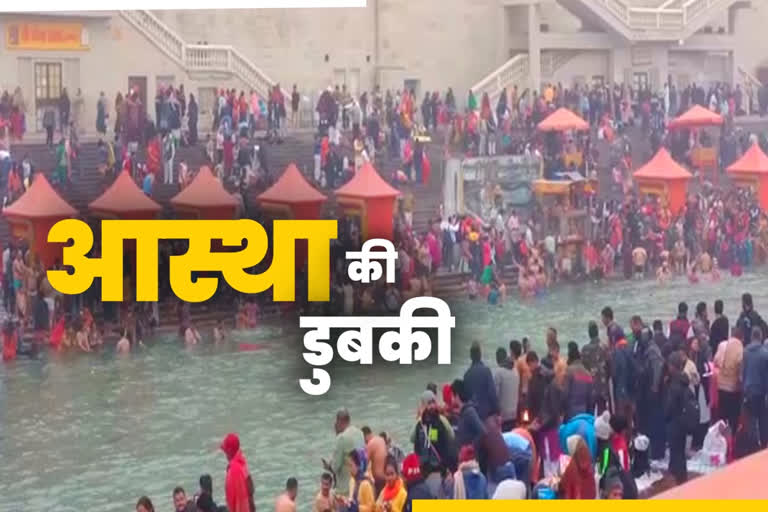
[[[363,240],[392,240],[395,199],[400,192],[379,175],[370,162],[335,192],[344,213],[360,217]]]

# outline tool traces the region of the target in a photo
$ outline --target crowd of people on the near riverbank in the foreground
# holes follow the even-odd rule
[[[433,383],[419,397],[408,454],[382,432],[337,412],[333,451],[323,460],[315,512],[409,512],[416,499],[635,499],[653,493],[638,482],[668,470],[688,479],[703,454],[710,469],[768,446],[768,325],[744,294],[731,323],[722,301],[686,303],[667,325],[633,316],[621,327],[610,307],[602,329],[561,354],[557,330],[546,352],[512,340],[483,361],[470,349],[463,378]],[[229,510],[251,512],[255,488],[239,439],[222,450]],[[702,458],[702,457],[699,457]],[[177,487],[177,512],[210,511],[211,478],[193,499]],[[298,482],[287,480],[276,512],[295,510]],[[143,507],[143,508],[141,508]],[[142,497],[137,512],[150,512]]]

